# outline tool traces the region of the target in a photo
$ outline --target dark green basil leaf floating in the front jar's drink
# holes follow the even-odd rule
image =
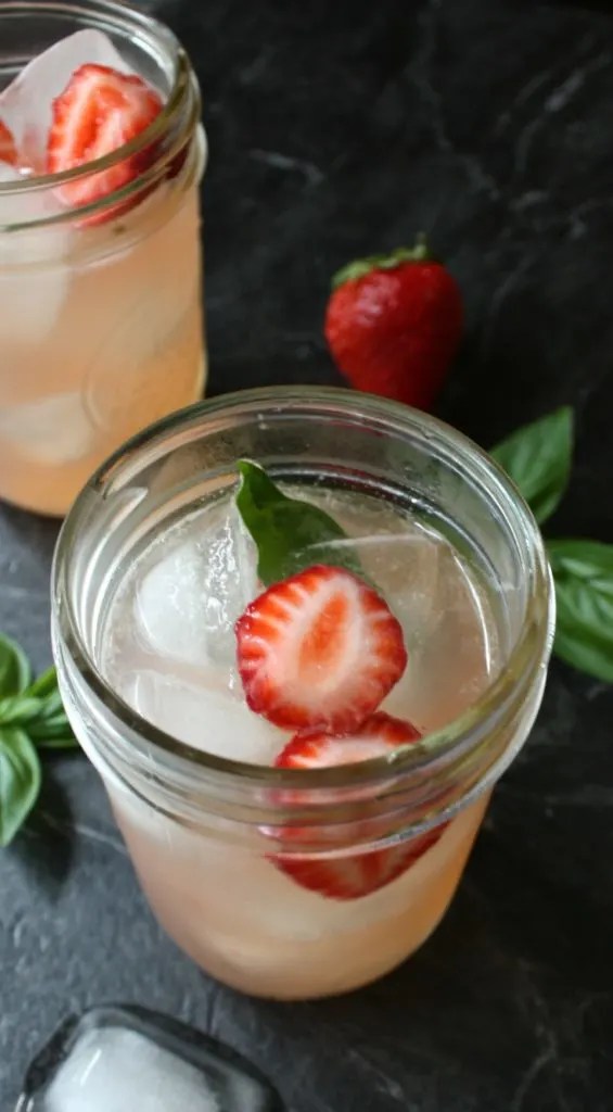
[[[265,587],[313,564],[344,567],[364,577],[346,534],[309,502],[289,498],[263,467],[239,460],[237,507],[258,547],[258,574]]]

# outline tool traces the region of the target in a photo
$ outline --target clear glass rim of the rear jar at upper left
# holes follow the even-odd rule
[[[3,19],[11,19],[19,14],[26,17],[37,12],[43,12],[48,18],[52,18],[53,14],[58,17],[74,14],[76,17],[82,17],[83,20],[89,18],[96,20],[91,24],[93,27],[97,27],[98,21],[105,20],[105,26],[110,26],[111,29],[118,31],[123,29],[125,32],[131,31],[132,33],[140,32],[141,36],[144,34],[171,59],[172,83],[161,111],[147,128],[134,136],[129,142],[123,143],[108,155],[103,155],[101,158],[86,162],[83,166],[73,167],[70,170],[62,170],[58,173],[24,175],[18,181],[0,182],[0,199],[9,196],[42,192],[46,189],[59,189],[64,183],[73,182],[94,173],[105,172],[118,163],[133,158],[141,151],[160,142],[164,136],[172,131],[181,113],[185,110],[189,112],[187,127],[190,130],[192,128],[195,129],[200,119],[201,103],[200,90],[190,59],[174,32],[165,23],[157,19],[155,16],[140,11],[128,3],[117,3],[115,0],[79,0],[79,2],[72,2],[72,0],[9,0],[9,2],[0,7],[0,27]],[[191,105],[190,100],[192,101]],[[178,143],[177,146],[180,148],[181,145]],[[164,162],[177,153],[178,150],[175,149],[165,151]],[[207,143],[204,141],[201,172],[205,169],[207,153]],[[134,182],[118,189],[108,197],[92,201],[90,205],[81,206],[78,210],[79,216],[94,216],[102,209],[115,205],[118,199],[128,199],[134,192],[140,191],[142,182],[147,177],[147,175],[141,175]],[[47,227],[61,224],[73,216],[74,210],[67,208],[66,211],[53,216],[46,215],[40,219],[14,221],[7,226],[0,224],[0,230],[2,230],[2,227],[10,231],[32,229],[41,226]]]

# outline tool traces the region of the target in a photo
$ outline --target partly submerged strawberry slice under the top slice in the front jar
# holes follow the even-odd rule
[[[331,765],[355,764],[372,757],[384,756],[399,745],[419,741],[421,734],[409,722],[392,718],[379,712],[346,737],[308,731],[297,734],[278,756],[278,768],[326,768]],[[438,826],[396,846],[358,853],[343,857],[295,857],[275,854],[270,857],[283,873],[311,892],[319,892],[329,900],[359,900],[384,887],[405,873],[424,853],[435,845],[446,824]],[[356,837],[360,824],[356,824]],[[283,832],[285,841],[316,838],[318,833],[300,828]]]

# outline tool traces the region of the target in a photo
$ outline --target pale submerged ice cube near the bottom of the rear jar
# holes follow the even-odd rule
[[[97,435],[78,393],[0,407],[0,437],[40,464],[58,467],[82,459],[93,450]]]

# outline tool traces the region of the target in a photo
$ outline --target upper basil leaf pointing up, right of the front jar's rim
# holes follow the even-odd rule
[[[571,474],[573,411],[556,409],[523,425],[492,448],[490,455],[523,494],[539,525],[557,507]]]

